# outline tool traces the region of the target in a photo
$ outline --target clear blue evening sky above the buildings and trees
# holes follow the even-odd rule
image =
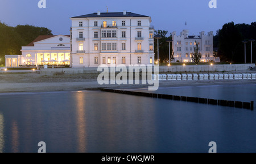
[[[217,0],[217,8],[209,8],[210,0],[46,0],[46,8],[38,8],[39,0],[0,0],[0,21],[11,26],[30,24],[47,27],[53,34],[69,34],[72,16],[106,12],[135,12],[151,16],[155,29],[169,33],[189,29],[189,34],[213,31],[230,21],[250,24],[256,21],[256,0]],[[185,22],[187,21],[187,26]]]

